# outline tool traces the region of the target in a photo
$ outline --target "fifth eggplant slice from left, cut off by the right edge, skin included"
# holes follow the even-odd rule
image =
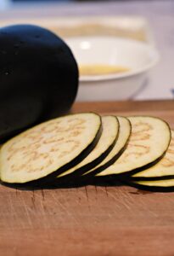
[[[174,131],[171,130],[171,143],[165,156],[154,166],[130,177],[134,181],[164,180],[174,178]]]

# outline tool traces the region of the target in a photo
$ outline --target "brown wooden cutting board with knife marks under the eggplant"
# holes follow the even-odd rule
[[[174,102],[76,103],[72,112],[154,115]],[[174,193],[128,186],[20,190],[0,185],[0,255],[174,255]]]

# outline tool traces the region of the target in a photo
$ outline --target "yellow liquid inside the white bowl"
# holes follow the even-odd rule
[[[81,65],[79,67],[80,75],[82,76],[97,76],[97,75],[103,75],[103,74],[111,74],[111,73],[123,73],[130,71],[130,68],[128,67],[121,67],[121,66],[112,66],[112,65],[100,65],[100,64],[94,64],[94,65]]]

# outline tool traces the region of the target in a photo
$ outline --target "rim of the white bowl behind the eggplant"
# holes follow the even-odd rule
[[[151,67],[154,67],[160,61],[160,54],[159,51],[151,44],[140,42],[138,40],[133,40],[130,38],[119,38],[119,37],[112,37],[112,36],[87,36],[87,37],[72,37],[66,38],[67,42],[71,40],[110,40],[110,41],[119,41],[119,42],[128,42],[131,44],[138,44],[141,45],[144,49],[148,49],[149,52],[152,53],[153,58],[149,61],[149,64],[144,65],[143,67],[127,71],[126,73],[111,73],[111,74],[102,74],[102,75],[86,75],[86,76],[79,76],[80,82],[93,82],[93,81],[105,81],[105,80],[113,80],[113,79],[123,79],[138,75],[140,73],[147,72]]]

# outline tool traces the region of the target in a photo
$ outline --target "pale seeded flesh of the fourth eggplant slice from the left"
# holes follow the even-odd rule
[[[129,117],[132,135],[121,157],[98,175],[130,172],[159,159],[171,140],[169,126],[161,119],[153,117]]]

